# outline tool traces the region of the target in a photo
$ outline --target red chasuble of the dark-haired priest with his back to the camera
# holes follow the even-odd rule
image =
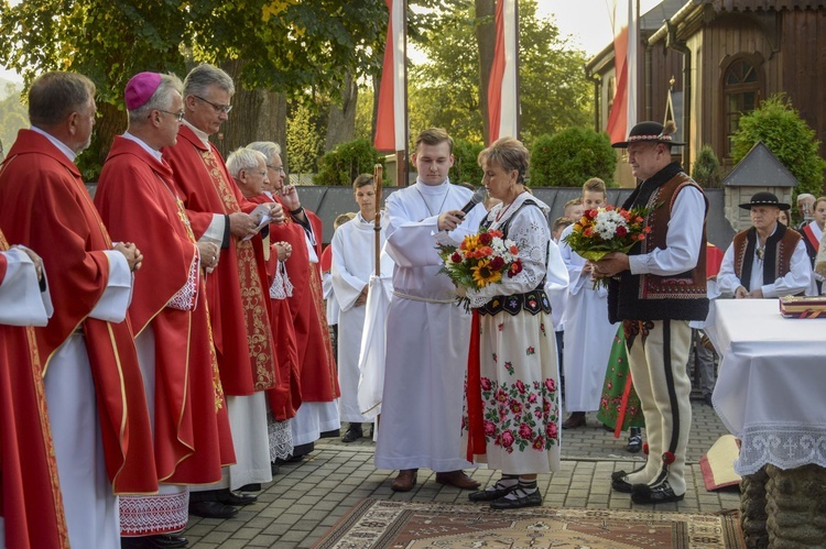
[[[104,250],[111,250],[111,240],[80,172],[32,130],[20,130],[0,173],[0,227],[10,242],[40,254],[48,272],[56,310],[48,326],[34,329],[44,372],[73,331],[81,329],[86,336],[115,493],[155,492],[152,432],[131,326],[128,319],[88,318],[106,289],[109,260]]]

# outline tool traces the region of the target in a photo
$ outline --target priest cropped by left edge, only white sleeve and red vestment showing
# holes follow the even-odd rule
[[[0,548],[68,547],[31,328],[51,314],[40,257],[0,232]]]

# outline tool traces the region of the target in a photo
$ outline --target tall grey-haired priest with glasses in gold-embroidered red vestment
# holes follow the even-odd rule
[[[207,304],[237,464],[220,483],[193,487],[189,495],[191,514],[217,518],[232,516],[235,509],[228,507],[256,501],[233,491],[272,480],[264,391],[276,382],[267,273],[250,240],[260,238],[254,233],[262,218],[249,213],[256,205],[243,199],[208,141],[227,120],[233,92],[224,70],[195,67],[184,80],[184,125],[177,144],[163,149],[195,238],[221,249],[217,267],[207,270]],[[280,208],[273,215],[283,216]]]

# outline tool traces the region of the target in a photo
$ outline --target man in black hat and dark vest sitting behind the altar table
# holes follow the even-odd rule
[[[727,297],[762,298],[803,294],[812,286],[812,265],[803,238],[778,222],[790,206],[771,193],[758,193],[740,208],[752,227],[735,234],[726,250],[717,286]]]

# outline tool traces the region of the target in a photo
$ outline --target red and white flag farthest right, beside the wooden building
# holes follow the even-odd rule
[[[613,63],[617,90],[606,131],[611,142],[624,141],[628,131],[637,124],[637,0],[615,0]]]

